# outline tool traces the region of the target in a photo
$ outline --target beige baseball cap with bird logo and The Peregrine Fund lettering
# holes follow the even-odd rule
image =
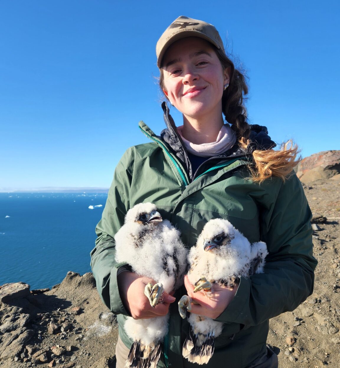
[[[222,39],[212,24],[181,15],[169,25],[157,42],[157,67],[160,68],[164,53],[171,43],[185,37],[203,38],[224,52]]]

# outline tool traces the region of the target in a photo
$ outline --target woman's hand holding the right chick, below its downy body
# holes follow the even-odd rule
[[[187,275],[184,276],[184,285],[187,289],[188,296],[192,298],[192,302],[197,303],[191,303],[190,313],[210,317],[212,319],[217,318],[222,314],[224,309],[228,307],[238,288],[238,285],[236,285],[234,289],[230,289],[226,286],[213,284],[213,293],[211,294],[207,295],[202,291],[194,293],[194,286],[191,285]]]

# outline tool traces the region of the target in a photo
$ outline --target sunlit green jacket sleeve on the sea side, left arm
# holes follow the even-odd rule
[[[117,270],[126,263],[114,259],[114,235],[124,223],[130,208],[130,187],[132,178],[131,151],[124,153],[114,172],[102,219],[96,227],[96,247],[91,252],[91,268],[96,286],[103,303],[116,314],[129,315],[121,301]]]

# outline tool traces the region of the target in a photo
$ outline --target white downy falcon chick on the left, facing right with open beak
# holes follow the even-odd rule
[[[127,262],[133,272],[156,281],[145,287],[145,295],[154,308],[183,284],[187,250],[180,232],[163,220],[152,203],[140,203],[128,210],[124,225],[114,237],[116,261]],[[128,317],[124,329],[134,341],[125,367],[156,368],[161,342],[168,331],[169,314],[148,319]]]

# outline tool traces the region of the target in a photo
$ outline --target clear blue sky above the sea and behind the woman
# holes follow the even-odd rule
[[[250,123],[302,156],[340,149],[339,13],[313,0],[1,1],[0,188],[109,187],[125,149],[147,142],[138,121],[163,129],[155,46],[179,15],[214,24],[247,71]]]

